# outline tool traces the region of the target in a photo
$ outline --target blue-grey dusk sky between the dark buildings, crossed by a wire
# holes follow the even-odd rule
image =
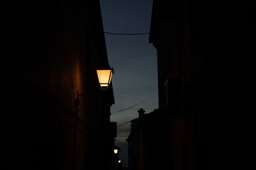
[[[105,32],[149,32],[152,0],[100,0]],[[148,34],[119,36],[105,34],[112,77],[115,104],[111,107],[111,122],[117,122],[115,145],[122,149],[120,158],[127,161],[127,136],[130,121],[143,108],[150,113],[158,108],[157,53],[148,43]]]

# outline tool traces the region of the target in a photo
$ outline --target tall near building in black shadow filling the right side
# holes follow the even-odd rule
[[[236,141],[237,126],[230,125],[233,116],[218,113],[232,113],[243,103],[234,89],[240,89],[244,80],[239,78],[241,83],[237,84],[234,80],[241,74],[241,67],[250,67],[246,56],[255,53],[252,11],[249,3],[154,0],[149,41],[157,49],[159,125],[184,124],[186,129],[186,157],[180,160],[187,166],[182,167],[184,163],[179,160],[175,169],[219,169],[234,165],[232,160],[236,158],[230,155],[230,144]],[[168,78],[182,82],[180,88],[169,89],[181,89],[180,111],[166,107],[164,82]],[[168,97],[180,101],[179,96]],[[172,118],[161,120],[166,115],[181,116],[185,121],[178,124],[179,120],[173,122]],[[167,127],[166,134],[172,139],[164,146],[179,148],[173,143],[178,138],[172,134],[173,129]],[[226,134],[232,136],[232,132],[234,138],[228,138]],[[169,153],[166,158],[169,161],[180,155]]]

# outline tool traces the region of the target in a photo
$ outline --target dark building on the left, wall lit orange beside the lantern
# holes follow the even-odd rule
[[[95,70],[109,68],[99,1],[13,9],[17,36],[4,93],[9,169],[110,169],[115,100],[112,85],[100,90]]]

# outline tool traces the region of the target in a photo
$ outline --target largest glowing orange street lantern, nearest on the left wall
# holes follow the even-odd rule
[[[108,90],[114,69],[97,69],[97,75],[101,90]]]

